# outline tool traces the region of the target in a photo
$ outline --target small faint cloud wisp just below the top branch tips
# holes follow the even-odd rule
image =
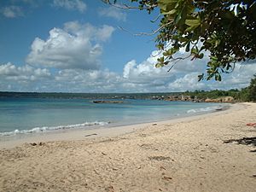
[[[98,14],[100,16],[110,17],[119,21],[120,20],[125,21],[127,17],[126,13],[124,13],[121,9],[114,8],[114,7],[101,8],[98,10]]]

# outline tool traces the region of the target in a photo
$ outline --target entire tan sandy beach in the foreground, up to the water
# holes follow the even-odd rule
[[[0,191],[253,192],[256,127],[247,123],[255,122],[256,104],[240,103],[184,119],[2,142]]]

